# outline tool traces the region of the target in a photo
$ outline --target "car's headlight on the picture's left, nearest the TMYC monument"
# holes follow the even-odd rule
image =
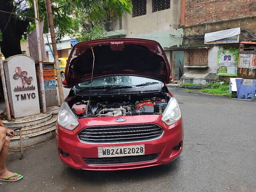
[[[65,129],[74,130],[78,126],[75,114],[71,111],[67,102],[62,103],[58,114],[58,124]]]

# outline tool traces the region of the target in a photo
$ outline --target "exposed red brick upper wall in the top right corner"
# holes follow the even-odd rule
[[[182,3],[181,26],[195,26],[256,16],[255,0],[182,0]]]

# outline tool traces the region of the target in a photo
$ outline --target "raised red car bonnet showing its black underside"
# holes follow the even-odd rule
[[[93,68],[94,62],[94,68]],[[80,42],[67,61],[68,87],[84,80],[106,75],[127,74],[168,83],[170,65],[156,41],[133,38],[109,38]]]

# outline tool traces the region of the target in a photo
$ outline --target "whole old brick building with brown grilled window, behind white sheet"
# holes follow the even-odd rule
[[[181,0],[180,5],[182,46],[166,48],[172,52],[173,73],[180,65],[177,56],[183,55],[181,82],[206,84],[223,80],[223,76],[216,76],[220,51],[238,50],[240,42],[256,41],[256,0]],[[205,44],[205,34],[233,28],[240,28],[236,42]]]

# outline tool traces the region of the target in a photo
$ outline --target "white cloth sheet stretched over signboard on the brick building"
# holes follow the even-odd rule
[[[222,31],[216,31],[212,33],[206,33],[204,35],[204,43],[207,44],[209,42],[213,42],[216,40],[221,40],[224,38],[231,38],[234,36],[237,36],[240,34],[240,27],[228,29],[228,30],[222,30]]]

